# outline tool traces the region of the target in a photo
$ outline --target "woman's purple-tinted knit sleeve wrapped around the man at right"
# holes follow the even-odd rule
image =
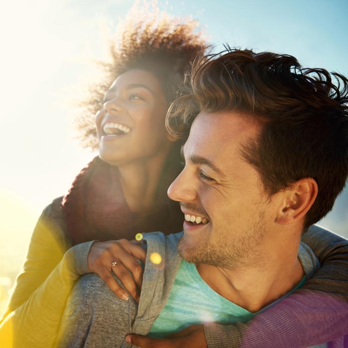
[[[348,334],[348,241],[318,226],[303,236],[322,267],[304,287],[247,324],[205,325],[212,347],[309,347]]]

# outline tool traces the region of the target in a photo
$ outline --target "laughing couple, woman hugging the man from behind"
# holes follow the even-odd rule
[[[99,158],[43,212],[0,342],[344,347],[348,244],[313,224],[347,179],[347,79],[229,49],[197,58],[176,98],[204,40],[142,15],[88,106]]]

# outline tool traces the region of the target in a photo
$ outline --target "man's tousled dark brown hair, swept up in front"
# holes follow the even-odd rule
[[[302,68],[296,58],[230,49],[198,58],[167,127],[187,136],[200,111],[240,111],[262,124],[258,139],[241,148],[269,196],[314,178],[316,201],[304,228],[324,217],[348,174],[348,80],[324,69]]]

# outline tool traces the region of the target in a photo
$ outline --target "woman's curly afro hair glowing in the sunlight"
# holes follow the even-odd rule
[[[130,69],[150,71],[160,80],[169,106],[190,62],[205,48],[206,38],[196,20],[160,12],[156,2],[136,2],[117,25],[110,44],[110,62],[99,63],[100,81],[80,102],[76,126],[82,146],[98,148],[94,115],[117,76]]]

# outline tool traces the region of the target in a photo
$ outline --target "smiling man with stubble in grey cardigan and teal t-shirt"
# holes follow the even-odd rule
[[[342,91],[325,70],[301,70],[291,56],[248,50],[196,62],[188,92],[168,118],[174,134],[189,129],[185,168],[168,190],[180,202],[184,232],[144,236],[148,253],[138,307],[113,299],[101,281],[90,281],[94,276],[83,277],[61,346],[154,347],[156,340],[131,335],[126,343],[124,337],[246,322],[285,303],[311,278],[319,262],[300,244],[302,231],[331,210],[348,174],[348,80],[334,76]],[[331,300],[318,298],[319,313]],[[347,310],[344,299],[341,304]],[[348,333],[346,324],[323,337],[344,345],[339,336]],[[324,344],[320,333],[327,327],[317,327],[314,317],[309,327],[317,335],[311,344]],[[291,326],[283,330],[291,332]],[[196,332],[192,337],[201,340]],[[294,347],[291,340],[287,347]],[[193,344],[204,347],[204,336],[187,347]]]

